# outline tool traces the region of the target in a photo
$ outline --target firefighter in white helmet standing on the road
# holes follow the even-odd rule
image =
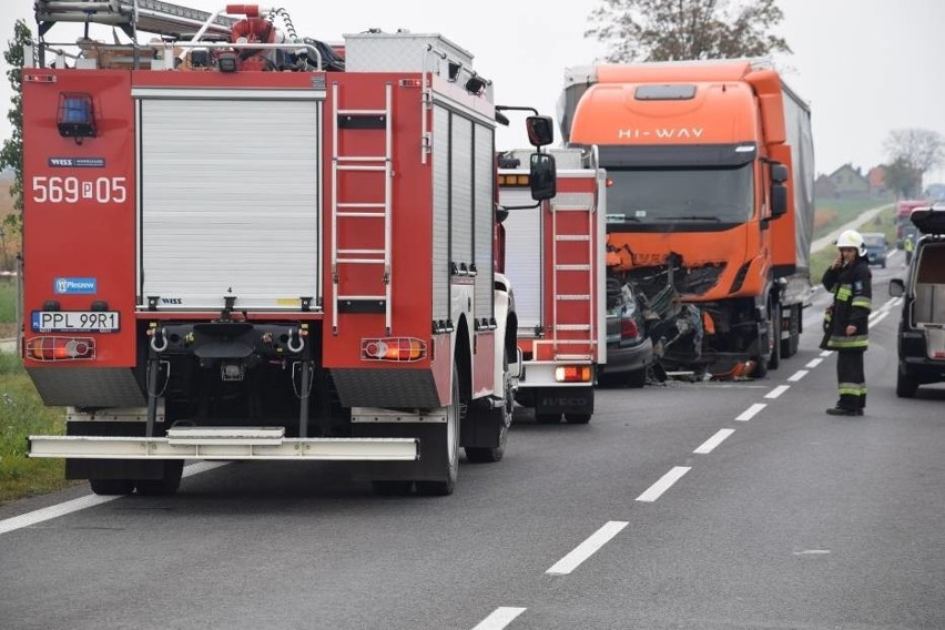
[[[833,304],[824,314],[821,348],[836,350],[839,399],[826,410],[831,416],[862,416],[866,406],[866,377],[863,353],[868,345],[867,319],[873,296],[873,276],[863,236],[846,230],[836,240],[840,250],[823,283],[833,293]]]

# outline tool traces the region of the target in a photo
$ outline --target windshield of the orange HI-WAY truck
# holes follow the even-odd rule
[[[607,170],[608,223],[744,223],[752,215],[752,164]]]

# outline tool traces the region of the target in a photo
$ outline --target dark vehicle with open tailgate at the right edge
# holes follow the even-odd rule
[[[945,380],[945,206],[916,209],[922,233],[906,277],[890,281],[903,297],[898,328],[896,396],[912,398],[919,385]]]

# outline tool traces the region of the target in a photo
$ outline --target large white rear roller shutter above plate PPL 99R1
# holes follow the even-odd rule
[[[318,118],[278,93],[141,99],[142,301],[297,309],[321,295]]]

